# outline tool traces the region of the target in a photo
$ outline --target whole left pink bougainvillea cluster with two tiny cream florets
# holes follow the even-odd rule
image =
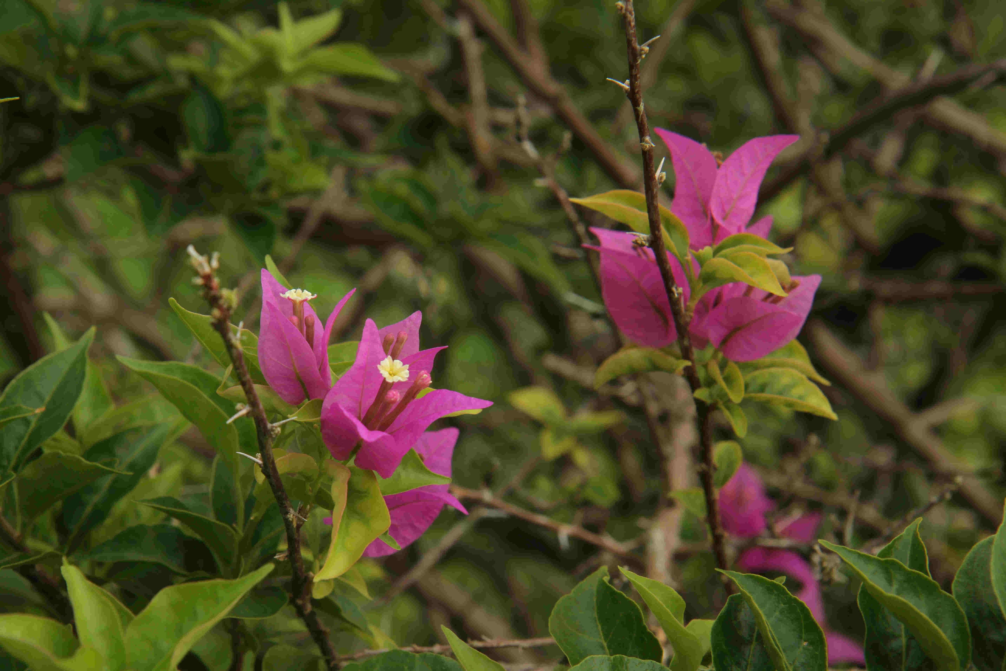
[[[309,303],[317,296],[287,289],[269,271],[262,271],[259,364],[266,381],[288,403],[324,399],[321,434],[334,459],[345,461],[355,455],[356,466],[389,478],[414,448],[431,471],[450,477],[458,431],[427,429],[446,414],[482,409],[492,402],[431,389],[434,359],[446,348],[420,349],[421,312],[382,329],[366,320],[353,364],[333,383],[329,339],[352,294],[342,297],[322,329]],[[430,527],[445,504],[467,514],[447,485],[428,485],[384,500],[391,513],[388,533],[402,547]],[[393,551],[375,540],[366,553],[380,556]]]

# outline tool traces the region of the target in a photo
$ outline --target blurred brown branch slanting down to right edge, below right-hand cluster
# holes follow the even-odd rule
[[[966,473],[967,464],[951,454],[933,433],[925,418],[912,412],[887,386],[882,373],[866,369],[863,362],[820,320],[808,322],[805,329],[822,366],[846,389],[882,420],[938,471]],[[974,475],[963,475],[961,494],[982,516],[994,525],[1002,521],[1002,500],[990,492]]]

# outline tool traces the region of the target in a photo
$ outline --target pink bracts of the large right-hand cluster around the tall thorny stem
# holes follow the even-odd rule
[[[656,132],[671,152],[677,186],[671,211],[688,229],[690,246],[697,250],[735,233],[768,237],[772,217],[748,225],[754,213],[758,189],[776,156],[798,139],[795,135],[754,138],[722,165],[703,145],[663,129]],[[665,347],[677,340],[670,304],[653,250],[636,233],[591,229],[600,246],[585,245],[601,255],[601,287],[612,319],[633,341],[647,347]],[[675,283],[691,298],[680,262],[668,254]],[[697,271],[697,264],[693,263]],[[810,312],[821,276],[794,276],[780,297],[741,283],[705,294],[696,304],[689,326],[692,343],[712,343],[732,361],[761,358],[793,340]]]

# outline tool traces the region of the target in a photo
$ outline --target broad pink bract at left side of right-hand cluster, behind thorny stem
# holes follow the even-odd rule
[[[601,241],[601,293],[615,324],[631,340],[647,347],[665,347],[677,341],[677,330],[667,301],[664,281],[646,236],[607,228],[591,228]],[[674,282],[690,296],[681,264],[670,254]]]

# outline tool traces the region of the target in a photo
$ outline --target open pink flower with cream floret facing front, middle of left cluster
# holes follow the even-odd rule
[[[418,349],[422,318],[416,312],[379,331],[366,321],[353,365],[322,403],[321,434],[335,459],[355,454],[357,466],[388,478],[435,421],[492,405],[448,389],[427,391],[434,358],[445,348]]]

